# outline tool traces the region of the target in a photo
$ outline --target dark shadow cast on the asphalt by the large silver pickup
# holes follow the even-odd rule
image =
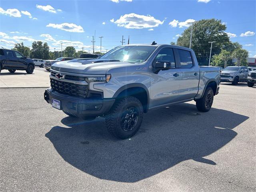
[[[194,104],[179,104],[144,115],[138,133],[127,140],[108,134],[104,119],[85,122],[66,117],[70,128],[53,127],[46,137],[72,166],[100,179],[137,182],[185,160],[216,165],[204,158],[237,133],[232,130],[247,116],[212,108],[199,113]]]

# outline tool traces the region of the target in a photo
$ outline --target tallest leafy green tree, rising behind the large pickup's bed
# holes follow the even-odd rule
[[[191,27],[184,30],[182,36],[177,40],[177,45],[189,47]],[[210,41],[216,41],[212,44],[212,54],[219,54],[222,45],[229,43],[229,38],[224,31],[226,26],[221,20],[207,19],[199,20],[193,25],[192,49],[194,50],[198,63],[207,65],[210,57]]]

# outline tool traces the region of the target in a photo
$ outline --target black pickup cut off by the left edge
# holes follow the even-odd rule
[[[10,73],[14,73],[16,70],[26,70],[28,74],[32,74],[34,68],[34,61],[20,52],[0,49],[0,72],[2,69],[7,69]]]

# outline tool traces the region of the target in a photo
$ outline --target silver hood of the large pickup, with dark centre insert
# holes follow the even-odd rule
[[[52,69],[60,72],[80,73],[80,74],[106,74],[111,68],[134,66],[137,63],[122,62],[104,59],[74,59],[54,63]]]

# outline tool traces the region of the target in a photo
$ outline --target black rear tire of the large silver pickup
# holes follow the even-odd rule
[[[209,102],[209,94],[211,95],[211,99]],[[212,103],[213,103],[213,97],[214,97],[214,93],[211,87],[206,88],[204,95],[202,96],[202,98],[196,100],[196,108],[198,111],[201,112],[207,112],[211,109],[212,107]],[[208,103],[209,102],[209,103]]]

